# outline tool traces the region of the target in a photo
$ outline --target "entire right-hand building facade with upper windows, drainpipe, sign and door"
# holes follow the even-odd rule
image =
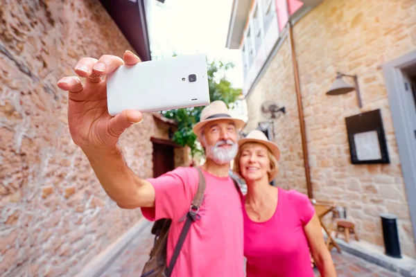
[[[281,148],[275,184],[345,206],[379,246],[380,214],[396,215],[413,258],[415,14],[413,0],[239,0],[227,36],[244,65],[243,132],[267,129]],[[354,87],[354,75],[354,90],[331,95]]]

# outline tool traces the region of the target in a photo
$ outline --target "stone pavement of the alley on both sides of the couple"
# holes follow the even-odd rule
[[[132,240],[128,247],[126,247],[121,254],[110,264],[100,277],[132,277],[140,276],[141,269],[144,263],[148,260],[148,253],[153,246],[153,236],[150,234],[152,224],[148,224],[141,235]],[[361,258],[352,256],[343,251],[338,253],[336,250],[332,251],[333,262],[336,265],[338,277],[395,277],[400,276],[366,262]],[[315,269],[315,276],[320,276],[317,269]]]

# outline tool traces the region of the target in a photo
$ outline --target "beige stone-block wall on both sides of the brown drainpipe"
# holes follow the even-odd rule
[[[414,258],[415,242],[407,204],[411,200],[406,199],[380,66],[415,49],[415,14],[416,2],[413,0],[327,0],[311,10],[294,27],[314,196],[346,206],[347,214],[356,222],[361,238],[381,246],[383,237],[379,213],[395,213],[399,216],[401,249]],[[248,98],[248,107],[249,111],[258,110],[261,102],[258,98],[264,96],[286,106],[288,114],[276,124],[276,142],[286,153],[295,151],[294,157],[298,161],[296,172],[303,172],[300,170],[303,166],[302,145],[297,132],[299,120],[295,105],[292,104],[295,87],[292,80],[280,78],[284,74],[282,72],[289,70],[281,64],[281,60],[287,56],[286,45],[287,42],[281,46],[254,88]],[[325,95],[336,77],[336,71],[358,74],[363,109],[358,108],[355,93],[331,97]],[[293,75],[288,76],[288,79],[293,79]],[[288,88],[287,92],[282,92],[284,87]],[[272,93],[265,94],[267,91]],[[345,117],[372,109],[381,109],[391,163],[355,166],[349,160]],[[257,118],[258,114],[254,118],[250,114],[248,128],[254,127]],[[288,126],[296,130],[288,130]],[[297,145],[299,150],[285,149],[288,143],[292,143],[285,137],[289,136],[288,132],[292,132],[293,145]],[[288,154],[282,155],[282,171],[289,170],[289,167],[284,166],[288,163],[288,157]],[[293,188],[303,184],[295,178],[283,179],[285,184]]]

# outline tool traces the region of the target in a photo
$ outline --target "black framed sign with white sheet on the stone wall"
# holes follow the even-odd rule
[[[353,164],[390,163],[380,109],[345,118]]]

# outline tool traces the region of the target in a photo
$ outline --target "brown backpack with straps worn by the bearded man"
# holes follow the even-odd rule
[[[181,219],[181,221],[186,220],[186,222],[180,232],[179,238],[177,239],[171,262],[169,263],[169,266],[166,265],[166,243],[172,220],[162,218],[153,224],[151,233],[155,235],[155,243],[153,244],[153,249],[150,251],[150,258],[144,265],[141,277],[170,277],[172,274],[173,267],[175,266],[175,262],[180,253],[180,249],[182,249],[185,238],[187,238],[189,228],[191,227],[192,222],[199,218],[199,208],[202,204],[202,200],[204,199],[205,177],[200,168],[197,166],[195,168],[198,170],[199,175],[198,190],[193,196],[189,212]],[[239,190],[239,194],[241,195],[239,185],[234,179],[233,181],[234,186],[236,186],[237,190]]]

